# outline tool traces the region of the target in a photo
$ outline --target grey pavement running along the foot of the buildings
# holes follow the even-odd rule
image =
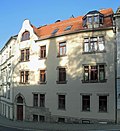
[[[0,126],[27,131],[120,131],[119,124],[66,124],[13,121],[0,116]]]

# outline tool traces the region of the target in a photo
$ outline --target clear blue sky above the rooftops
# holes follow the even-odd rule
[[[119,6],[120,0],[0,0],[0,49],[19,33],[25,19],[39,27],[92,10],[112,8],[116,12]]]

